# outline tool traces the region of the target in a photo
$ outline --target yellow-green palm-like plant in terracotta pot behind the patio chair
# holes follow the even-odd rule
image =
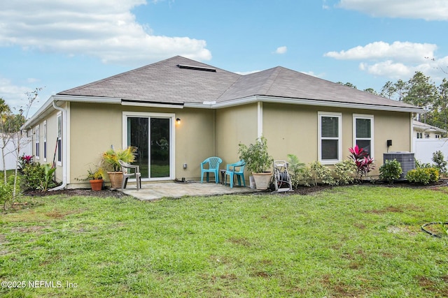
[[[112,188],[120,188],[123,181],[123,172],[118,161],[132,163],[135,161],[136,147],[127,147],[126,149],[115,150],[113,148],[103,152],[103,162],[109,174]]]

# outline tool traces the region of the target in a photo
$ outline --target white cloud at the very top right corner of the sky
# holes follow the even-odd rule
[[[340,0],[337,7],[374,17],[448,20],[447,0]]]

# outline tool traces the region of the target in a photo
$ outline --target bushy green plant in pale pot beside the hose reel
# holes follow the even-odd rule
[[[271,180],[272,172],[269,172],[274,158],[267,153],[267,140],[259,137],[255,144],[238,144],[239,158],[246,161],[249,171],[252,172],[255,180],[255,188],[267,189]]]

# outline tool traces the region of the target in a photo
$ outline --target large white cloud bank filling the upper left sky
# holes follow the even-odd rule
[[[142,64],[182,55],[211,59],[205,40],[155,36],[132,8],[145,0],[7,1],[0,10],[0,46],[98,57],[104,63]],[[24,9],[26,8],[26,9]]]

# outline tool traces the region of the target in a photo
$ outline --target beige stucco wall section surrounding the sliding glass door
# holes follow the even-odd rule
[[[100,163],[103,151],[111,145],[116,149],[123,147],[123,112],[175,114],[174,118],[181,119],[174,131],[176,178],[199,179],[200,162],[216,154],[214,110],[71,103],[71,187],[85,184],[78,179],[85,178],[87,169]],[[94,133],[96,130],[99,133]],[[183,163],[187,164],[186,169]]]

